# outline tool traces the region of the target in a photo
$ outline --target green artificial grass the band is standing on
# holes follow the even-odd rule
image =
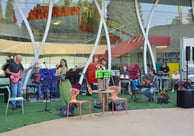
[[[140,98],[139,101],[134,102],[131,99],[131,96],[127,94],[120,94],[119,97],[124,97],[128,99],[128,110],[133,109],[152,109],[152,108],[171,108],[176,107],[176,92],[168,92],[170,96],[169,104],[157,104],[156,102],[148,102],[147,99],[142,101],[142,95],[138,94]],[[92,104],[92,113],[101,112],[101,109],[93,108],[94,102],[98,100],[98,95],[93,94],[92,96],[78,96],[79,100],[90,100]],[[48,103],[48,108],[52,113],[48,112],[39,112],[40,110],[44,110],[45,103],[24,103],[24,111],[23,115],[21,109],[17,109],[15,111],[11,110],[11,105],[9,106],[8,114],[5,115],[5,107],[6,104],[3,102],[3,97],[0,98],[0,133],[10,131],[16,128],[20,128],[26,125],[40,123],[48,120],[54,120],[63,118],[59,116],[59,101],[52,101]],[[83,104],[82,106],[82,114],[88,114],[88,106]]]

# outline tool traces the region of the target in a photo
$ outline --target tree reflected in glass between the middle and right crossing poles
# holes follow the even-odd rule
[[[139,9],[141,11],[140,5]],[[141,35],[133,0],[110,0],[107,11],[107,24],[109,27],[118,28],[126,25],[121,29],[123,32],[134,36]]]

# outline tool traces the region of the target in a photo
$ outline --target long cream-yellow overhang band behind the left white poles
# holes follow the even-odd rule
[[[33,48],[31,42],[19,42],[0,39],[0,52],[3,54],[24,54],[33,55]],[[37,49],[39,48],[40,42],[36,42]],[[41,52],[42,56],[52,55],[88,55],[91,53],[93,44],[56,44],[56,43],[45,43]],[[106,45],[99,45],[95,54],[104,54],[106,51]]]

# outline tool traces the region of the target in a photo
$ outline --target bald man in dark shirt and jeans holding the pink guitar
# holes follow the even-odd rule
[[[7,69],[6,73],[9,75],[14,75],[15,77],[18,77],[17,73],[19,70],[24,70],[22,62],[22,56],[17,55],[15,62],[11,63]],[[22,81],[19,80],[18,83],[11,82],[11,94],[13,98],[21,97],[22,96]],[[19,101],[12,101],[12,110],[15,110],[16,108],[21,108],[21,103]]]

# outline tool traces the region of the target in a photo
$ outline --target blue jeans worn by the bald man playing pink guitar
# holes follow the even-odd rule
[[[22,96],[22,81],[20,80],[18,83],[14,84],[11,82],[11,95],[12,98],[21,97]],[[12,107],[20,106],[20,101],[12,101]]]

